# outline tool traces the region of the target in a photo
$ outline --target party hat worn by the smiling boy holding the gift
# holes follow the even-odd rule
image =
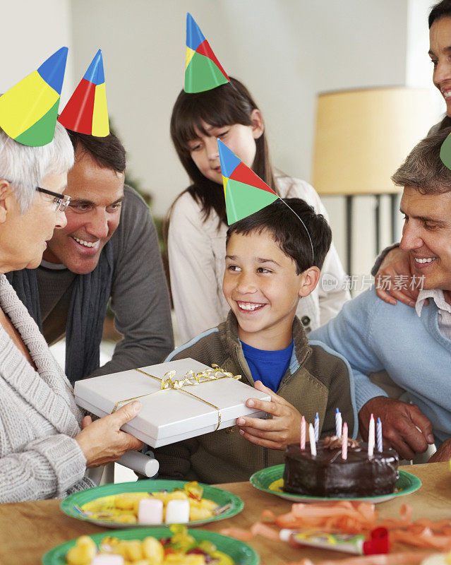
[[[258,212],[279,198],[220,139],[217,140],[217,145],[229,225]]]

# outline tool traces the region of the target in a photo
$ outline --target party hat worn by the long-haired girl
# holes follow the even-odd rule
[[[185,92],[202,93],[222,84],[229,77],[222,69],[210,44],[203,36],[191,13],[186,14]]]

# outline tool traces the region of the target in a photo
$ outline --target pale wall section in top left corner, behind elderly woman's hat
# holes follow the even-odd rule
[[[60,47],[69,47],[60,108],[73,90],[71,0],[0,0],[1,73],[4,93]]]

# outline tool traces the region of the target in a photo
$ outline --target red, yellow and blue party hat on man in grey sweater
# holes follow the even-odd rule
[[[100,49],[61,112],[58,121],[65,128],[78,133],[88,133],[97,137],[105,137],[109,134],[107,91]]]

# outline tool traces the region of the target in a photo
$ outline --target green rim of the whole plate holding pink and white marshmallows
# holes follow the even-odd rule
[[[122,492],[157,492],[159,490],[172,491],[176,488],[184,488],[186,481],[169,481],[162,479],[148,479],[140,480],[136,482],[118,482],[116,484],[104,484],[102,487],[94,487],[92,489],[83,490],[80,492],[75,492],[69,495],[66,499],[61,501],[60,508],[72,518],[78,518],[78,520],[84,520],[91,522],[93,524],[101,525],[103,528],[143,528],[146,524],[124,524],[117,522],[109,522],[106,520],[98,520],[90,518],[89,516],[83,516],[76,509],[76,506],[80,507],[87,502],[94,499],[100,499],[102,496],[110,496],[112,494],[121,494]],[[210,484],[199,483],[203,487],[203,497],[215,501],[218,506],[224,506],[225,504],[230,504],[230,508],[224,511],[219,516],[212,516],[212,518],[205,518],[205,520],[196,520],[188,522],[190,526],[198,526],[206,524],[208,522],[216,522],[218,520],[225,520],[226,518],[231,518],[236,516],[241,510],[243,510],[244,503],[236,496],[227,490],[217,489],[216,487],[210,487]],[[167,525],[167,524],[149,524],[149,527],[154,528],[155,525]]]

